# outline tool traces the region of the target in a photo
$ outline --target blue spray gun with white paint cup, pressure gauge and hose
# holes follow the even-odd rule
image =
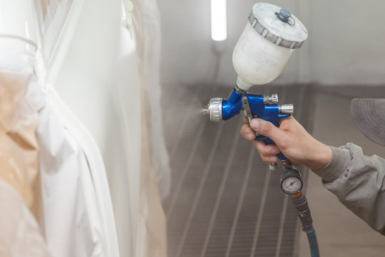
[[[251,121],[255,117],[278,126],[279,119],[290,116],[292,104],[279,104],[277,94],[259,95],[247,92],[253,85],[267,84],[279,76],[295,49],[307,39],[307,29],[289,11],[273,4],[258,3],[252,7],[246,27],[238,39],[232,54],[237,71],[237,83],[227,99],[213,98],[205,106],[205,114],[211,121],[227,121],[244,111]],[[255,140],[272,144],[271,138],[256,135]],[[292,202],[307,233],[312,257],[319,256],[317,236],[312,226],[312,216],[307,199],[302,193],[302,177],[289,159],[277,155],[282,163],[281,188],[292,196]],[[277,163],[270,163],[270,170],[277,170]]]

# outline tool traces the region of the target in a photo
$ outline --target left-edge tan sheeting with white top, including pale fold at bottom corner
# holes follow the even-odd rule
[[[4,45],[0,40],[1,50],[11,50]],[[42,99],[31,100],[29,57],[0,51],[0,256],[50,256],[36,222],[41,191],[36,109]]]

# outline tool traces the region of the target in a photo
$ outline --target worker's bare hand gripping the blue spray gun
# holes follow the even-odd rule
[[[247,117],[243,121],[240,133],[244,138],[252,141],[260,152],[262,161],[277,162],[276,155],[282,152],[293,165],[304,164],[315,171],[327,166],[332,160],[332,148],[310,136],[293,116],[281,119],[279,128],[262,119],[252,119],[251,124]],[[255,132],[271,138],[276,145],[255,141]]]

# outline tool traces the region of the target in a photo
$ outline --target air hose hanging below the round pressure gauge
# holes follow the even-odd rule
[[[292,195],[292,201],[294,208],[297,211],[299,219],[302,223],[302,231],[307,234],[307,240],[309,241],[310,253],[312,257],[319,257],[319,248],[317,235],[313,228],[312,213],[310,213],[307,199],[304,194],[300,191]]]

